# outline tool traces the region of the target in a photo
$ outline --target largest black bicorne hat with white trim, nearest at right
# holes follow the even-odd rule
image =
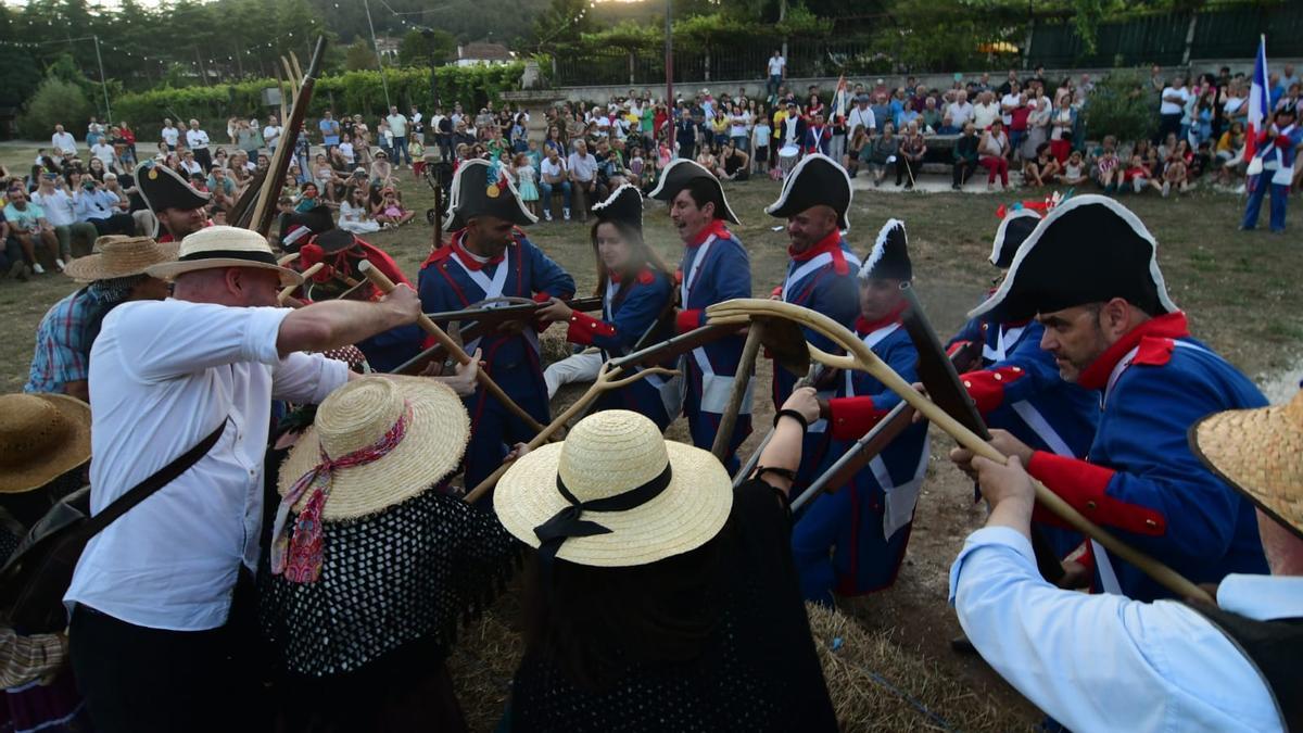
[[[1114,297],[1151,316],[1175,313],[1158,243],[1130,209],[1097,194],[1050,210],[1018,248],[999,288],[971,313],[1009,322]]]

